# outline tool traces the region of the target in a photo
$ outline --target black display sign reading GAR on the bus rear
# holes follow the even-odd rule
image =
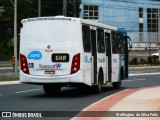
[[[52,54],[52,62],[69,62],[69,54]]]

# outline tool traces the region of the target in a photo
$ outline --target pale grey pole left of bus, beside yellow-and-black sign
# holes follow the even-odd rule
[[[14,72],[17,72],[17,0],[14,0]]]

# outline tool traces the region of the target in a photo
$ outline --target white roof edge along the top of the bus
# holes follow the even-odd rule
[[[69,21],[79,21],[83,24],[89,24],[89,25],[93,25],[93,26],[98,26],[98,27],[102,27],[102,28],[106,28],[109,30],[114,30],[117,31],[117,27],[113,27],[113,26],[109,26],[106,24],[102,24],[102,23],[97,23],[97,22],[93,22],[90,20],[85,20],[85,19],[81,19],[81,18],[75,18],[75,17],[64,17],[64,16],[53,16],[53,17],[35,17],[35,18],[28,18],[28,19],[23,19],[21,21],[21,23],[26,23],[26,22],[31,22],[31,21],[40,21],[40,20],[69,20]]]

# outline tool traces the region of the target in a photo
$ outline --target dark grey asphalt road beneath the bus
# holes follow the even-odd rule
[[[131,76],[129,79],[123,81],[121,89],[115,90],[112,87],[104,87],[100,94],[65,87],[57,96],[46,96],[42,86],[38,85],[1,85],[0,111],[81,111],[90,104],[124,89],[153,85],[160,85],[160,74]],[[47,120],[66,120],[70,118],[54,117],[47,118]],[[17,120],[17,118],[8,119]],[[41,120],[43,119],[46,120],[46,118],[41,118]],[[23,119],[21,118],[20,120]],[[32,119],[29,118],[29,120]]]

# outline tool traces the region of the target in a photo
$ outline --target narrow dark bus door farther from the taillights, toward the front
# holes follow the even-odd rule
[[[111,34],[105,32],[105,44],[106,44],[106,80],[111,82],[112,79],[112,50],[111,50]]]

